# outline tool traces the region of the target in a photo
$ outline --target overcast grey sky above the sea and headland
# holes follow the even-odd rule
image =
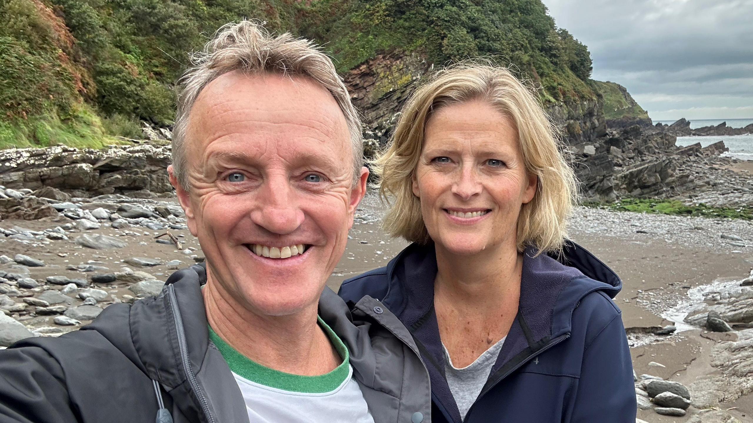
[[[753,118],[753,0],[542,0],[654,120]]]

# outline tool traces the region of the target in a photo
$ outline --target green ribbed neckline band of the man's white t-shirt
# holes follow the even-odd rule
[[[218,350],[220,350],[222,357],[227,361],[230,370],[232,370],[233,373],[236,373],[236,375],[248,379],[251,382],[268,386],[270,388],[282,389],[283,391],[300,392],[304,394],[324,394],[339,388],[340,385],[343,385],[343,382],[348,379],[350,375],[349,353],[348,348],[345,346],[342,339],[337,336],[337,333],[334,333],[334,330],[332,330],[332,328],[329,327],[321,317],[317,316],[317,318],[319,325],[325,330],[325,333],[327,333],[335,350],[340,354],[340,358],[343,359],[343,362],[330,373],[325,373],[320,376],[294,375],[292,373],[281,372],[258,364],[236,351],[235,348],[220,338],[211,326],[207,326],[209,327],[209,339],[214,342]]]

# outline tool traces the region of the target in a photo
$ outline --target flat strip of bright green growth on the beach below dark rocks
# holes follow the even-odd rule
[[[612,203],[588,202],[584,203],[584,205],[618,212],[658,213],[661,215],[731,218],[753,221],[753,207],[712,207],[703,203],[699,205],[686,205],[681,201],[671,199],[626,198]]]

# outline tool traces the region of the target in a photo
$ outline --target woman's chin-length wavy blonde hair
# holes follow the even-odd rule
[[[412,189],[424,129],[439,108],[471,100],[489,102],[513,120],[526,170],[538,177],[535,196],[520,209],[518,251],[527,246],[536,248],[536,254],[561,251],[577,193],[575,173],[562,157],[561,142],[532,90],[507,68],[478,60],[444,68],[416,90],[403,108],[389,148],[371,161],[380,178],[380,195],[390,205],[384,229],[410,242],[431,240]]]

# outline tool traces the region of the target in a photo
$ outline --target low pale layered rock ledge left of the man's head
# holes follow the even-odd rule
[[[0,151],[0,185],[52,187],[79,197],[119,193],[151,198],[172,192],[169,163],[169,145],[9,149]]]

